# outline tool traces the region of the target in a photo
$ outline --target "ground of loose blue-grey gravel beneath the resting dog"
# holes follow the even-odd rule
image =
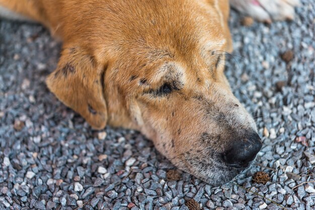
[[[220,187],[178,180],[135,131],[92,130],[45,85],[60,44],[0,21],[0,209],[315,209],[315,2],[302,2],[292,23],[246,27],[232,12],[226,74],[264,145],[257,166]],[[270,181],[254,183],[257,171]]]

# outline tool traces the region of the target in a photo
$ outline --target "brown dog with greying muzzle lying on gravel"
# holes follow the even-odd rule
[[[294,14],[286,0],[231,3],[267,22]],[[0,16],[40,22],[63,40],[47,85],[66,106],[95,129],[141,131],[214,185],[248,168],[262,146],[223,74],[228,14],[227,0],[0,0]]]

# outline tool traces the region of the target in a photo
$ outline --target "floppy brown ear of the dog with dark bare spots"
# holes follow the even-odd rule
[[[107,123],[104,73],[104,66],[84,49],[64,47],[58,66],[46,83],[59,100],[82,115],[93,128],[103,129]]]

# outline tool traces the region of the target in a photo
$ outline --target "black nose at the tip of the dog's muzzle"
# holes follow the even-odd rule
[[[261,147],[262,141],[258,134],[250,133],[241,139],[234,140],[230,149],[223,155],[223,159],[234,167],[248,166]]]

